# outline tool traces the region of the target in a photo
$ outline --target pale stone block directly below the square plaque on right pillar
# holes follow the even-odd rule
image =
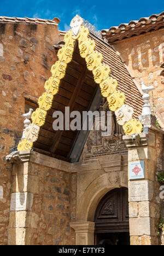
[[[128,182],[129,202],[151,201],[153,199],[153,182],[148,180]]]

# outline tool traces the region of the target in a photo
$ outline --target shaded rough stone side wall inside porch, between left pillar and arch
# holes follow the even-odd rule
[[[34,164],[39,176],[39,194],[34,194],[32,212],[38,223],[31,232],[31,245],[75,245],[74,230],[77,176]]]

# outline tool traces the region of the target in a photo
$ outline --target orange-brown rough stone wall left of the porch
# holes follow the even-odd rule
[[[57,60],[52,45],[61,38],[55,25],[0,24],[0,245],[7,244],[11,164],[5,155],[24,129],[26,94],[39,97]]]

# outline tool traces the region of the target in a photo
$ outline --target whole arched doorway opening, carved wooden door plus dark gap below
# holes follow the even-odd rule
[[[109,191],[98,203],[95,245],[130,245],[127,188]]]

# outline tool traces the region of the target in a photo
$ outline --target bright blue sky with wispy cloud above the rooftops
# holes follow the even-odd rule
[[[102,30],[162,11],[163,0],[0,0],[0,16],[50,20],[58,17],[60,30],[68,30],[76,14],[95,25],[96,30]]]

